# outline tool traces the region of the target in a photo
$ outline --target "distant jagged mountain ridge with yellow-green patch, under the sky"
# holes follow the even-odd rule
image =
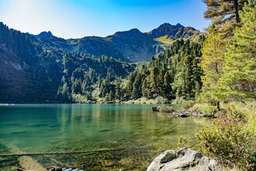
[[[164,23],[156,29],[142,33],[138,29],[114,33],[108,37],[83,37],[79,39],[62,39],[54,37],[51,32],[42,32],[36,36],[38,44],[46,50],[56,48],[63,51],[85,53],[100,57],[107,55],[121,61],[149,61],[153,56],[169,47],[174,40],[198,40],[202,35],[193,27],[180,23],[173,26]],[[31,38],[33,39],[33,38]]]

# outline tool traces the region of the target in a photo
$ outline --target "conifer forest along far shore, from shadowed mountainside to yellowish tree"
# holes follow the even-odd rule
[[[150,62],[137,64],[134,72],[135,65],[113,58],[65,54],[58,99],[80,103],[156,99],[158,96],[167,100],[194,99],[202,89],[202,69],[198,64],[203,40],[204,37],[198,43],[177,40]]]

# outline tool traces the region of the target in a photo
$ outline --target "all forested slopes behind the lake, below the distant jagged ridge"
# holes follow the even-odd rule
[[[0,23],[2,103],[107,103],[161,96],[194,99],[202,89],[202,42],[176,40],[150,62],[128,64],[114,58],[55,47],[44,48],[27,33]]]

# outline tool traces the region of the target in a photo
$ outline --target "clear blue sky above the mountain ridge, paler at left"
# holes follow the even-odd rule
[[[57,37],[106,37],[163,23],[209,26],[202,0],[0,0],[0,21],[22,32],[50,30]]]

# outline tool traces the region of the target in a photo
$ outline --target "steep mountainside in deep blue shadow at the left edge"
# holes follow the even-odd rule
[[[54,101],[60,64],[25,33],[0,23],[0,103]]]

